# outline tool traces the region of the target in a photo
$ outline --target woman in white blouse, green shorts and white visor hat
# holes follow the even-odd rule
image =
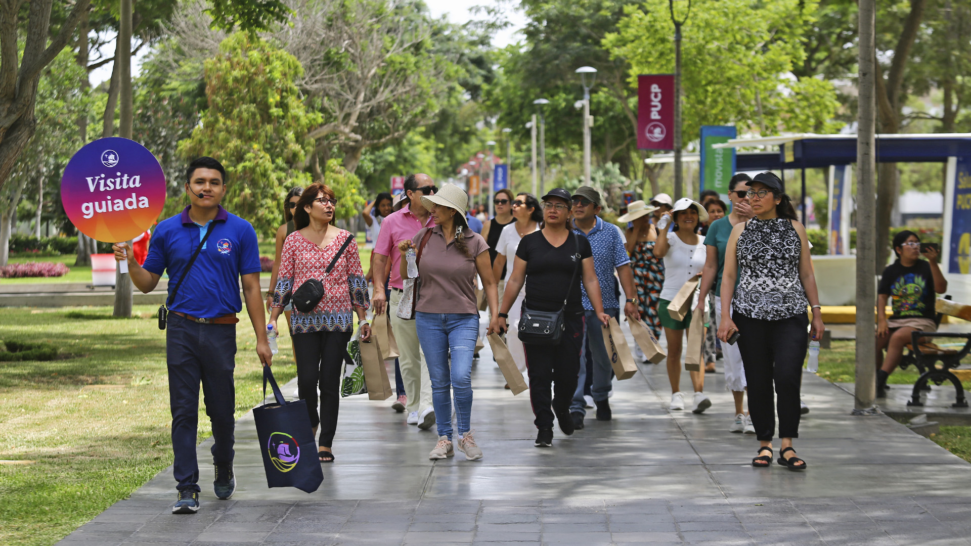
[[[704,207],[683,197],[675,202],[670,213],[664,213],[658,223],[657,242],[654,256],[664,258],[664,286],[657,302],[657,315],[664,326],[664,336],[668,343],[668,379],[671,381],[671,405],[669,409],[685,409],[685,395],[681,392],[681,353],[683,333],[691,324],[689,311],[682,321],[676,321],[668,313],[667,306],[681,290],[688,279],[701,274],[705,267],[704,239],[697,234],[698,222],[707,222],[708,213]],[[674,222],[668,232],[667,222]],[[694,305],[691,305],[694,308]],[[691,411],[701,413],[711,407],[712,401],[705,395],[705,372],[692,371],[691,385],[694,387]]]

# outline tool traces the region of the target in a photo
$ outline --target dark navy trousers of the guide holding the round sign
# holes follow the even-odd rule
[[[199,384],[213,425],[213,462],[233,461],[236,422],[236,324],[198,324],[169,313],[165,329],[172,406],[173,474],[179,491],[201,490],[195,448],[199,425]]]

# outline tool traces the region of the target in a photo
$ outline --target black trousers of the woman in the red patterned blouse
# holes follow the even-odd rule
[[[297,361],[297,392],[307,401],[310,426],[320,426],[319,446],[329,448],[337,431],[341,403],[341,365],[351,341],[349,331],[316,331],[293,334]],[[320,390],[318,416],[317,391]]]

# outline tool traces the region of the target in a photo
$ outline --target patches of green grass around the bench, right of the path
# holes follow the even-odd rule
[[[855,347],[854,341],[833,341],[831,349],[820,350],[820,371],[817,375],[835,383],[853,383],[856,377]],[[897,369],[887,378],[887,384],[914,385],[920,375],[914,366],[905,370]],[[944,388],[950,389],[950,385],[945,384]],[[971,389],[971,382],[964,381],[962,385],[965,390]],[[941,433],[930,439],[964,461],[971,462],[971,427],[941,427]]]

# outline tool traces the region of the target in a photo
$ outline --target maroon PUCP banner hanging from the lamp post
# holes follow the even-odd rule
[[[674,74],[637,77],[637,148],[674,150]]]

